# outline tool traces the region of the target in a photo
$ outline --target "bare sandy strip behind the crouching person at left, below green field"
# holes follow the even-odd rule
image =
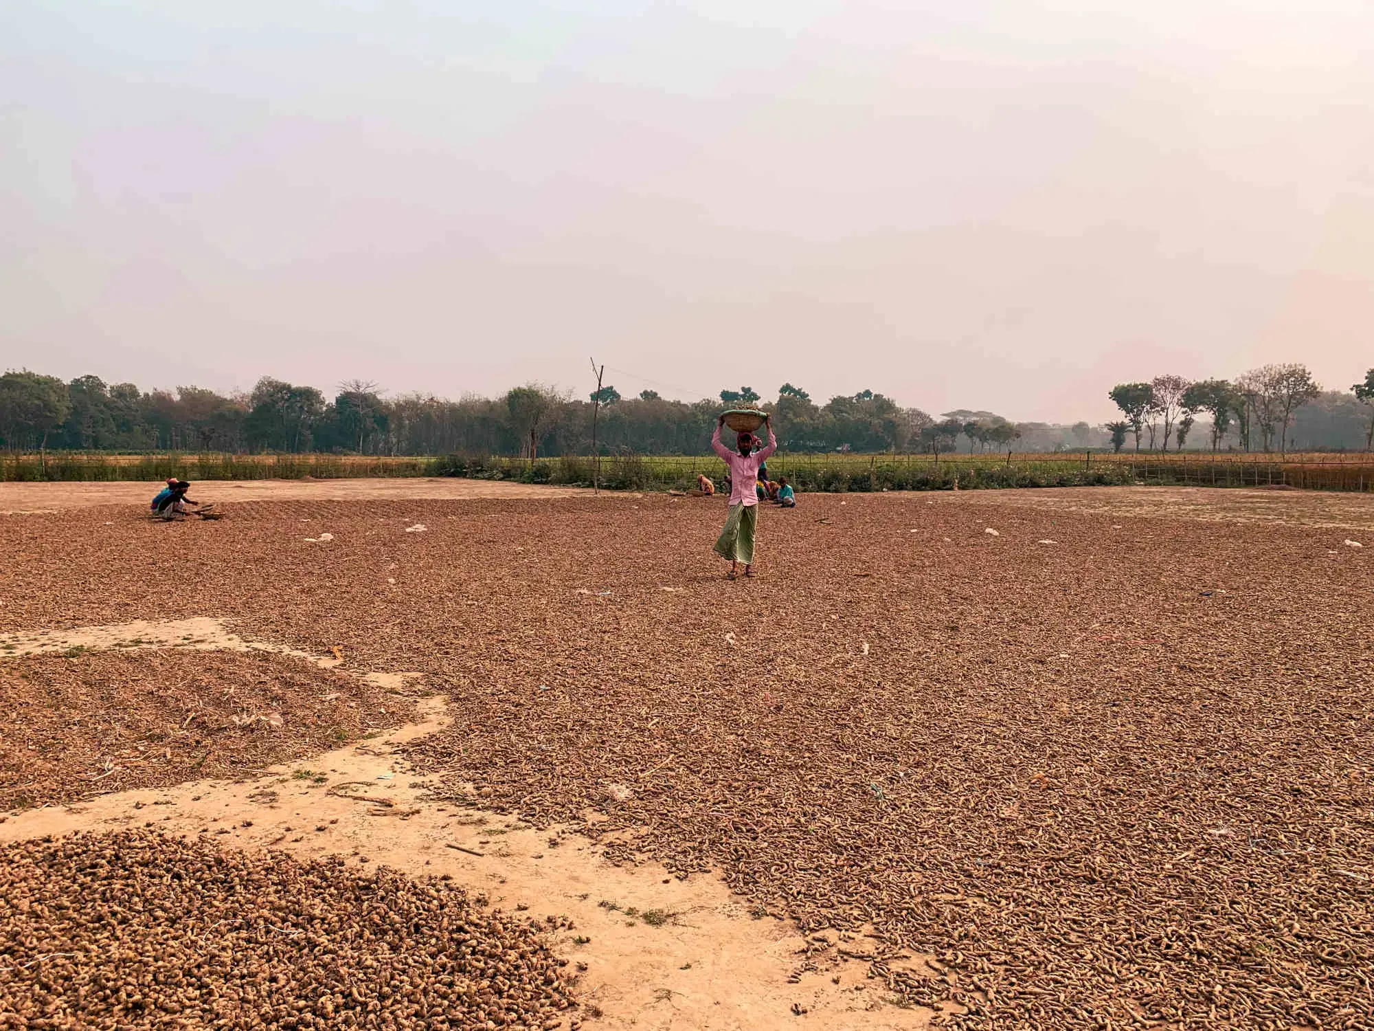
[[[95,505],[147,505],[162,481],[0,484],[0,516],[63,511]],[[198,502],[356,502],[463,498],[589,498],[585,487],[539,487],[460,477],[397,477],[370,480],[198,480],[191,489]],[[606,498],[625,498],[602,491]]]

